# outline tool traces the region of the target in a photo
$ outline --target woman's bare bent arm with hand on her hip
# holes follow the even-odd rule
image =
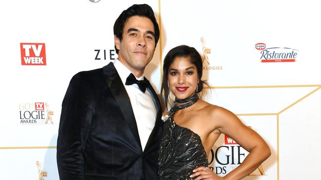
[[[263,138],[251,128],[245,126],[232,112],[217,108],[213,112],[217,129],[234,139],[249,154],[239,167],[227,174],[225,180],[240,180],[252,173],[270,155],[271,150]]]

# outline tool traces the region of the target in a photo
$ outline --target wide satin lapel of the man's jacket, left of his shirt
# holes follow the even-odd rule
[[[117,73],[117,70],[112,62],[103,67],[104,70],[104,79],[114,95],[122,115],[126,120],[132,134],[134,135],[136,141],[141,148],[140,138],[138,134],[137,124],[135,120],[135,116],[133,113],[133,109],[130,104],[130,100],[127,94],[125,87],[123,86],[120,76]]]

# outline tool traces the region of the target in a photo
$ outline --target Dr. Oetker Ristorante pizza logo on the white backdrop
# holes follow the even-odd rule
[[[292,48],[266,48],[264,43],[255,44],[255,48],[261,51],[261,62],[295,62],[299,51]]]

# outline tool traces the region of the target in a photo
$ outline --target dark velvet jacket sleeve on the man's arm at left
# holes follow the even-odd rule
[[[83,151],[93,116],[91,83],[86,74],[76,74],[62,102],[57,140],[60,180],[84,180]]]

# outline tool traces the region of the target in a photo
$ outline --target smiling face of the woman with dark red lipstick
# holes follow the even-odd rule
[[[189,58],[174,58],[168,68],[168,87],[177,99],[195,94],[198,80],[197,68]]]

